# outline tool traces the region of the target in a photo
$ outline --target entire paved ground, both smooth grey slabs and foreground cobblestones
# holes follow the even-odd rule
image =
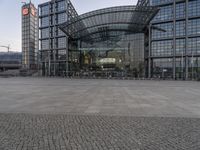
[[[200,82],[0,78],[0,150],[199,150]]]

